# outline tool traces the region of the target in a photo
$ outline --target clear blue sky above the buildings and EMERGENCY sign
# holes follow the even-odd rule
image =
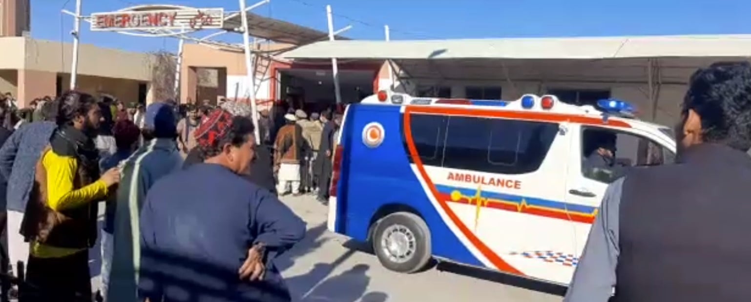
[[[83,14],[153,3],[238,9],[236,0],[83,0]],[[60,10],[73,11],[74,4],[32,0],[32,36],[71,41],[73,19]],[[326,4],[337,15],[335,28],[352,25],[346,36],[369,40],[383,39],[385,24],[392,40],[751,33],[749,0],[271,0],[254,12],[326,30]],[[83,43],[140,52],[176,50],[173,38],[91,32],[86,22],[82,27]],[[228,39],[240,42],[242,36]]]

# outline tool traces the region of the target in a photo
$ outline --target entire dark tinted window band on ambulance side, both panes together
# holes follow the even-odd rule
[[[463,116],[411,115],[412,139],[426,166],[522,174],[539,169],[558,124]]]

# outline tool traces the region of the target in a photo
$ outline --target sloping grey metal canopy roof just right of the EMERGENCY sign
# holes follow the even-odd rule
[[[261,16],[256,13],[248,12],[249,34],[252,37],[272,40],[278,43],[291,43],[294,45],[305,45],[308,43],[318,42],[328,39],[328,33],[318,31],[291,22],[272,19]],[[225,16],[225,30],[243,31],[243,19],[239,12],[231,13]],[[336,37],[337,40],[349,40],[347,37]]]

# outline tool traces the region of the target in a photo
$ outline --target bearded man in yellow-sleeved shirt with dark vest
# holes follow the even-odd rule
[[[97,236],[97,202],[119,182],[100,177],[94,138],[101,108],[68,91],[56,100],[57,129],[37,163],[21,232],[31,244],[20,301],[91,301],[88,249]],[[98,180],[97,180],[98,179]]]

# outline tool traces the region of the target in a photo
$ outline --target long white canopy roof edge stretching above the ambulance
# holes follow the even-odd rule
[[[481,40],[323,41],[286,52],[285,58],[351,59],[596,59],[746,57],[751,35],[556,37]]]

